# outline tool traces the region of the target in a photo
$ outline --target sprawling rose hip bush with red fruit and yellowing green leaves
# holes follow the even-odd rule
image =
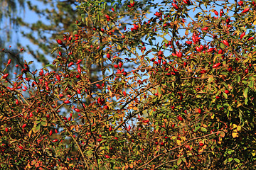
[[[255,1],[77,7],[55,71],[1,70],[2,169],[255,169]]]

